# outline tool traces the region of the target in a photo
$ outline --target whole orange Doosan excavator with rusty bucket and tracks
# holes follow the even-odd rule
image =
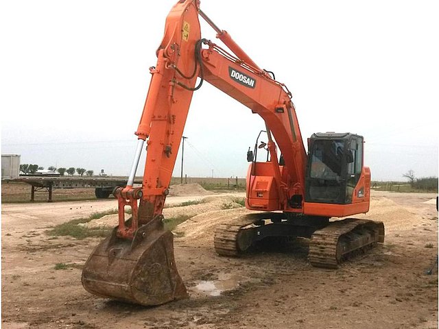
[[[201,37],[200,17],[228,49]],[[369,209],[364,138],[351,133],[313,134],[307,153],[287,86],[219,29],[200,10],[199,0],[174,5],[156,55],[128,183],[113,192],[119,203],[119,225],[97,245],[82,271],[88,292],[147,306],[188,296],[162,211],[191,98],[204,81],[259,114],[268,138],[268,143],[258,145],[260,133],[247,153],[246,208],[258,211],[217,226],[214,247],[219,255],[239,256],[269,236],[301,236],[310,239],[311,265],[336,268],[344,259],[383,242],[382,222],[329,221]],[[145,142],[143,184],[134,187]],[[265,161],[257,161],[258,151],[264,152],[264,159],[266,152]],[[127,207],[132,210],[129,219]]]

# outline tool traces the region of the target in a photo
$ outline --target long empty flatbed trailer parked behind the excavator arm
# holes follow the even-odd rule
[[[47,202],[52,202],[52,191],[54,188],[95,188],[95,195],[98,199],[108,198],[113,189],[117,186],[126,186],[128,178],[112,177],[62,177],[26,175],[19,178],[3,179],[2,182],[24,182],[31,186],[30,201],[34,201],[35,192],[46,190],[48,192]],[[134,180],[134,184],[142,184],[142,180]]]

